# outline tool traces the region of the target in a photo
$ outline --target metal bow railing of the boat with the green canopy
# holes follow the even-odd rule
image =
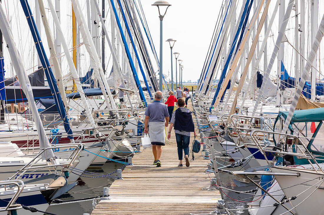
[[[270,149],[266,149],[265,147],[261,146],[261,144],[264,145],[264,141],[260,140],[260,136],[258,135],[258,133],[262,133],[263,136],[265,134],[279,135],[281,138],[279,139],[279,142],[276,144],[276,146],[272,150],[270,150]],[[251,132],[251,137],[252,137],[252,140],[253,140],[254,144],[259,149],[259,151],[264,156],[266,162],[269,165],[272,165],[274,163],[275,157],[282,157],[283,158],[284,155],[291,155],[291,156],[297,156],[298,158],[307,159],[309,164],[313,167],[313,169],[317,173],[318,173],[317,169],[319,169],[324,174],[323,169],[320,167],[317,160],[314,158],[312,153],[308,150],[307,145],[303,142],[303,140],[299,136],[292,135],[292,134],[284,134],[284,133],[275,132],[275,131],[253,130]],[[299,152],[297,153],[297,152],[290,152],[290,151],[284,151],[283,150],[283,148],[285,148],[285,147],[288,148],[288,147],[290,147],[292,145],[294,145],[298,149],[298,151],[300,151],[300,153]],[[280,150],[280,151],[278,151],[278,150]],[[273,160],[268,160],[268,158],[266,156],[267,153],[268,154],[272,153],[274,155]],[[312,163],[311,160],[314,163]],[[316,168],[314,166],[314,164],[318,168]]]

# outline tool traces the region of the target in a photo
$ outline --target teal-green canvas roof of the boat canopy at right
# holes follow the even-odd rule
[[[287,118],[288,111],[279,111],[276,121],[282,116]],[[294,122],[320,122],[324,120],[324,108],[312,108],[306,110],[295,110],[290,123]]]

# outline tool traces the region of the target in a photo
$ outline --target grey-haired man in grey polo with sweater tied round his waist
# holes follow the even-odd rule
[[[144,133],[148,133],[147,125],[150,128],[150,139],[154,155],[154,165],[161,166],[160,157],[162,146],[165,146],[164,127],[169,125],[168,108],[162,103],[162,92],[156,91],[155,100],[145,110]]]

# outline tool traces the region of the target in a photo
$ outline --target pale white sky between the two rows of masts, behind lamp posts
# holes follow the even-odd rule
[[[160,24],[158,10],[152,6],[155,0],[142,0],[142,6],[148,27],[156,48],[157,56],[160,50]],[[203,63],[214,32],[221,0],[169,0],[171,6],[163,19],[163,74],[171,77],[171,53],[168,38],[177,41],[172,52],[179,52],[183,60],[183,81],[197,81],[200,77]],[[173,55],[173,72],[175,79],[175,58]],[[177,63],[178,71],[179,64]]]

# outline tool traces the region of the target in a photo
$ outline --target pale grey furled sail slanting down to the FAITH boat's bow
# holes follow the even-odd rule
[[[31,89],[31,85],[29,82],[29,78],[26,73],[26,69],[24,67],[22,58],[18,52],[17,46],[14,42],[14,37],[12,35],[11,28],[9,26],[9,22],[6,16],[6,12],[4,11],[2,4],[0,2],[0,29],[3,34],[3,37],[5,38],[8,52],[12,61],[12,65],[16,71],[17,77],[19,79],[20,86],[24,93],[26,94],[26,97],[28,99],[29,108],[31,109],[31,112],[33,114],[34,122],[36,124],[37,128],[37,134],[39,139],[40,148],[48,148],[50,147],[50,143],[48,141],[48,138],[46,136],[45,130],[43,128],[43,124],[41,123],[40,115],[38,114],[37,107],[34,101],[33,92]],[[48,149],[41,155],[42,159],[49,159],[53,158],[54,153],[51,149]]]

